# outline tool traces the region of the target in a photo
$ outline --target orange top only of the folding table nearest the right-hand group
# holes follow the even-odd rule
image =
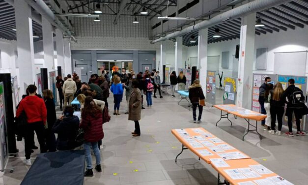
[[[220,109],[224,112],[238,116],[240,118],[246,118],[246,119],[250,119],[250,120],[262,121],[267,117],[264,114],[260,114],[258,112],[254,112],[254,111],[249,110],[249,109],[238,107],[238,106],[233,105],[233,104],[214,105],[214,107],[217,108],[217,109]]]

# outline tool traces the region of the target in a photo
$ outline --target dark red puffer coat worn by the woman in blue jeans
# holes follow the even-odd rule
[[[104,138],[102,113],[97,118],[91,115],[82,118],[79,127],[84,129],[84,140],[87,142],[97,142]]]

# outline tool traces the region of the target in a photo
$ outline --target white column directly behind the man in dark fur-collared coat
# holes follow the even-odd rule
[[[205,96],[207,76],[207,33],[208,29],[199,30],[197,63],[197,69],[199,70],[199,80]]]

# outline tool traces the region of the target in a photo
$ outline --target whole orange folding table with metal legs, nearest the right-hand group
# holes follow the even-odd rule
[[[246,133],[244,133],[242,140],[244,141],[244,137],[250,132],[250,131],[256,131],[256,133],[259,135],[259,138],[262,139],[261,134],[257,130],[258,121],[262,121],[266,118],[266,115],[260,114],[258,112],[254,112],[249,109],[245,109],[242,107],[238,107],[236,105],[230,104],[230,105],[214,105],[215,108],[221,110],[221,117],[218,120],[217,124],[223,119],[226,118],[232,126],[232,122],[229,120],[229,114],[233,114],[236,117],[244,118],[245,121],[248,123],[248,128],[246,129]],[[223,114],[223,111],[226,112],[226,114]],[[255,125],[253,125],[250,120],[255,120]],[[254,127],[255,129],[250,129],[250,127]]]

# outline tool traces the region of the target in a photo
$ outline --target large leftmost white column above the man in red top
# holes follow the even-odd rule
[[[31,8],[24,0],[15,1],[15,16],[16,34],[17,34],[17,52],[18,65],[20,72],[20,88],[21,93],[25,92],[25,83],[33,84],[35,81],[35,66],[34,66],[34,49],[33,49],[33,33]]]

